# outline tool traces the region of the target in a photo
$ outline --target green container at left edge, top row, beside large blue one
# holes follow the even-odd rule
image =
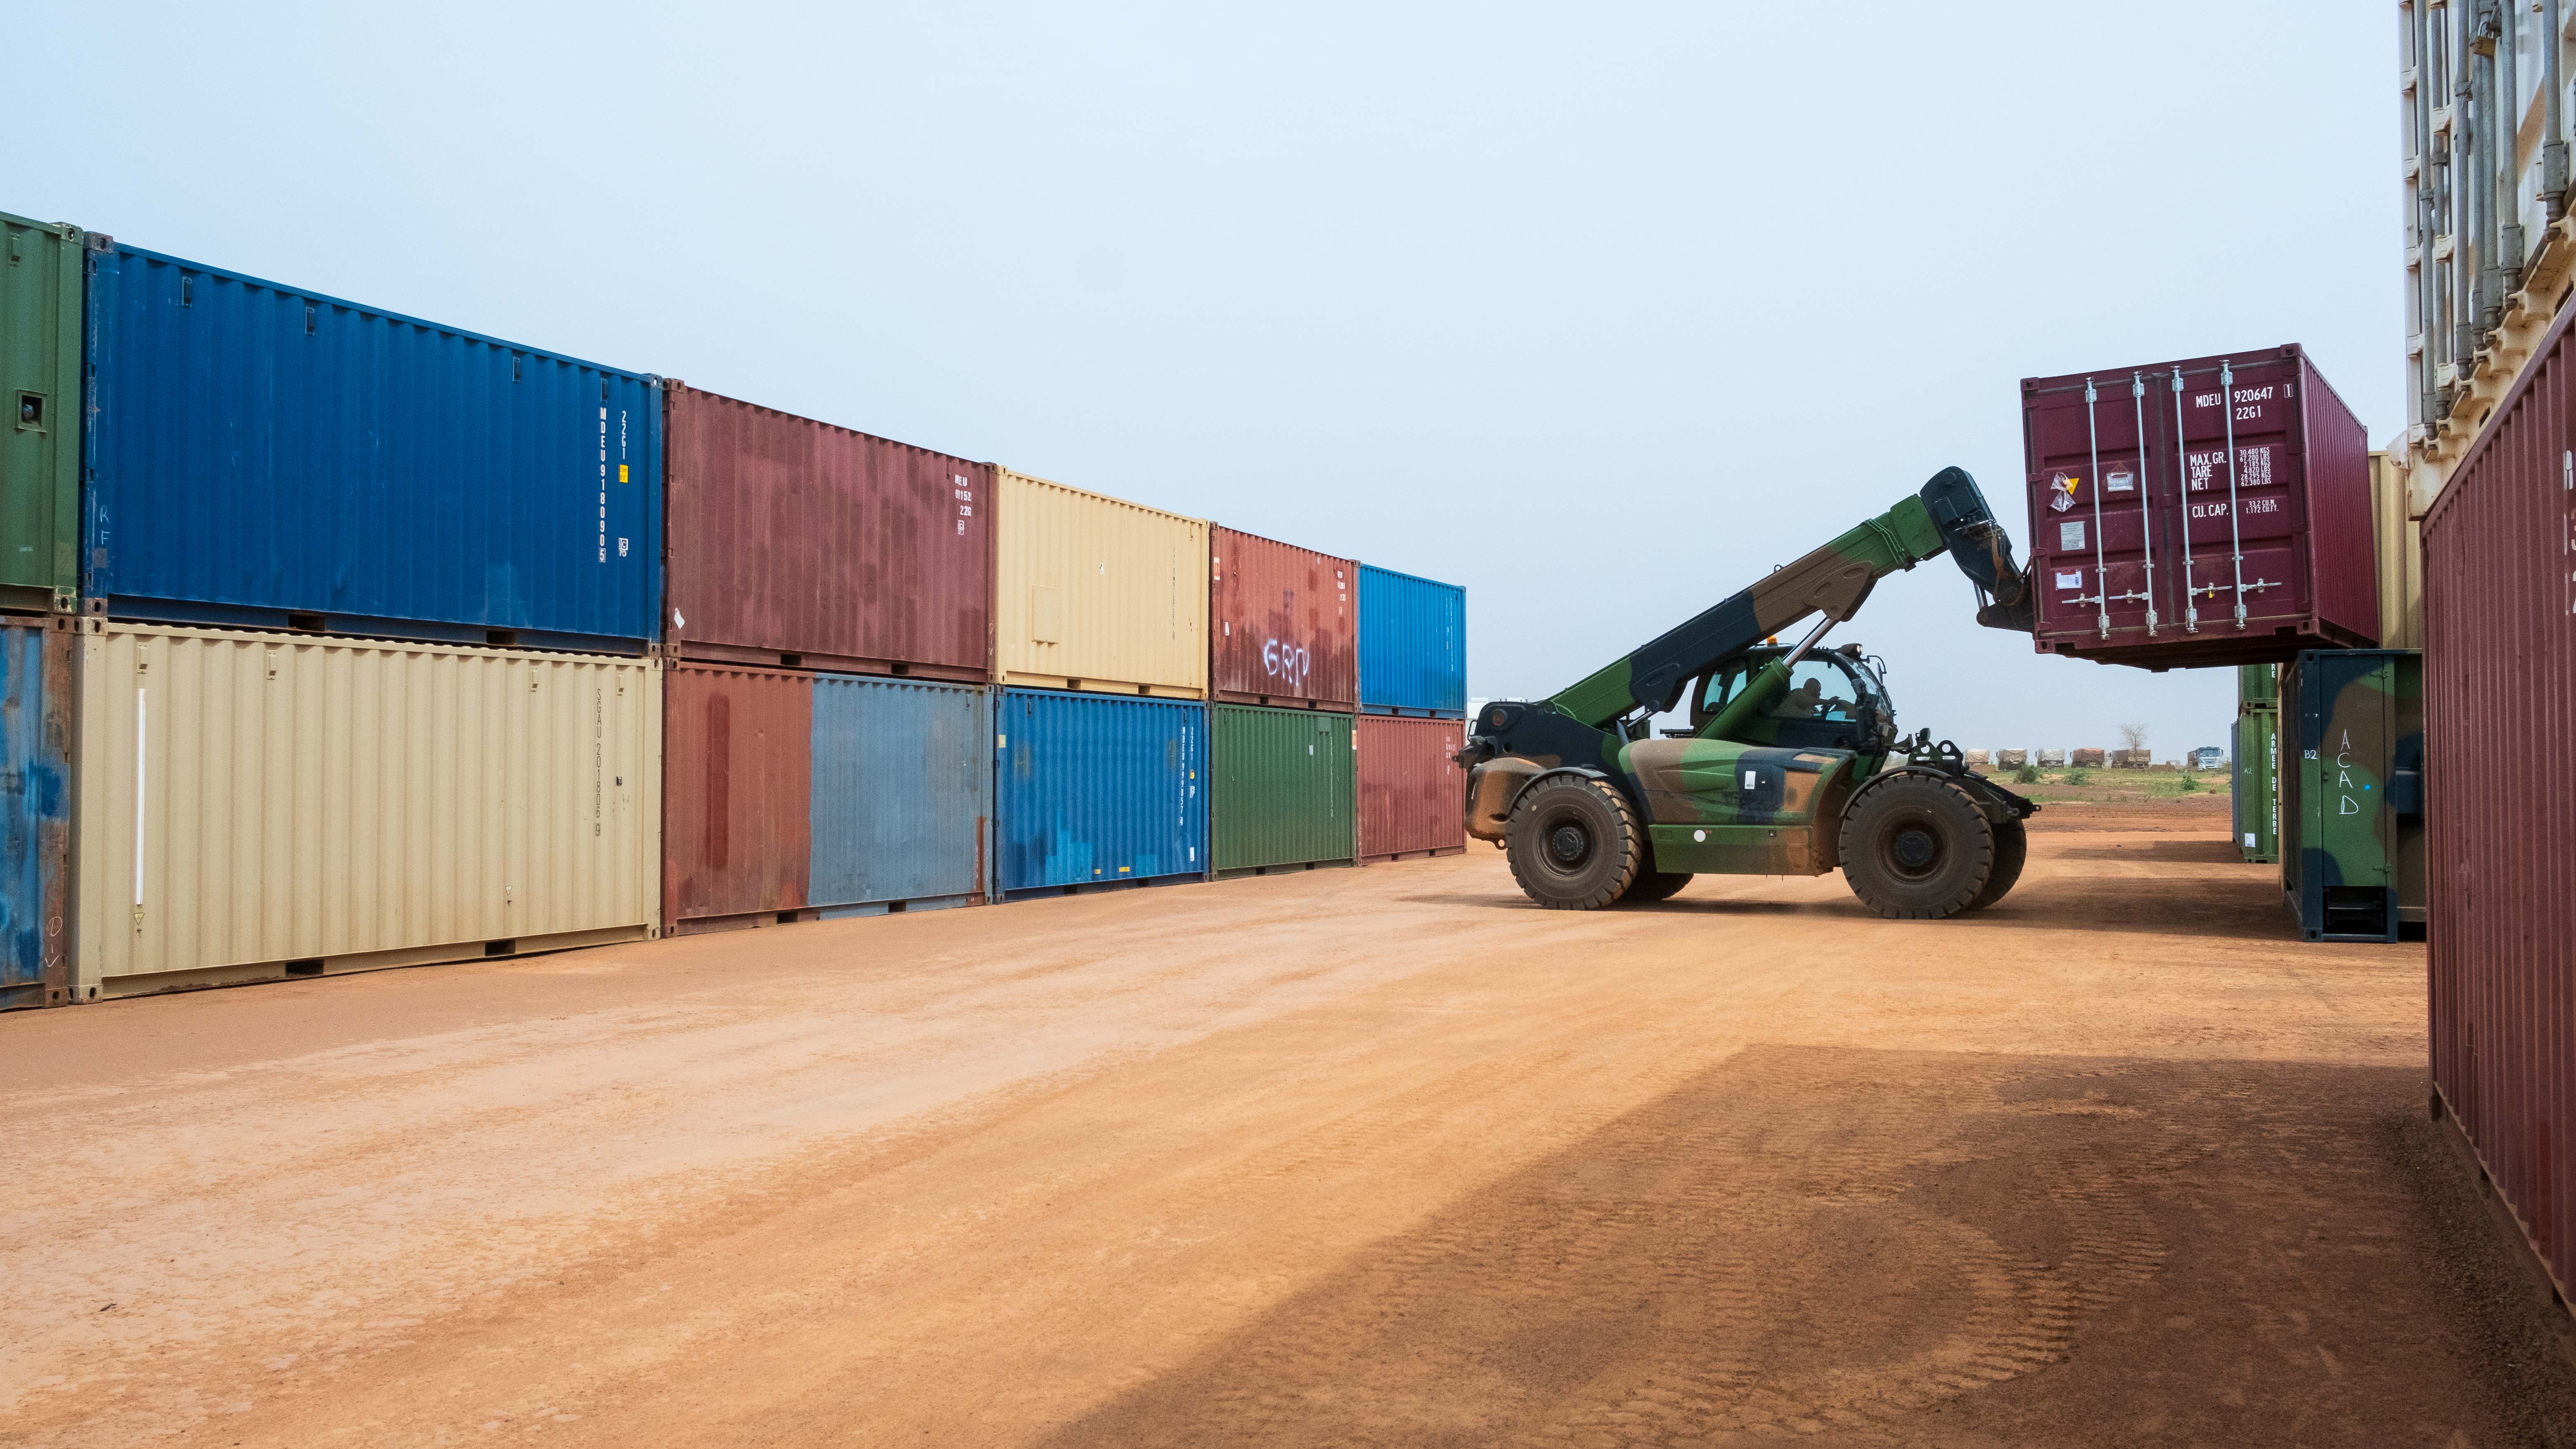
[[[0,211],[0,608],[80,608],[80,227]]]

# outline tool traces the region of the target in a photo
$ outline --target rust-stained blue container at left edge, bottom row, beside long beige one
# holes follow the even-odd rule
[[[72,1000],[72,627],[0,624],[0,1011]]]

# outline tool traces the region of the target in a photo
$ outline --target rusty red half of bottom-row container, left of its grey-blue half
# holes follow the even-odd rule
[[[672,665],[662,683],[662,926],[762,926],[806,905],[814,676]]]

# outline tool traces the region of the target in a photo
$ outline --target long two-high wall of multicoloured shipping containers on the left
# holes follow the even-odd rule
[[[0,1008],[1461,848],[1450,585],[0,224]]]

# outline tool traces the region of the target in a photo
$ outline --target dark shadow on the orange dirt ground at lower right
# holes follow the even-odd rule
[[[2476,1315],[2421,1101],[1752,1049],[1048,1444],[2548,1444],[2571,1374]]]

